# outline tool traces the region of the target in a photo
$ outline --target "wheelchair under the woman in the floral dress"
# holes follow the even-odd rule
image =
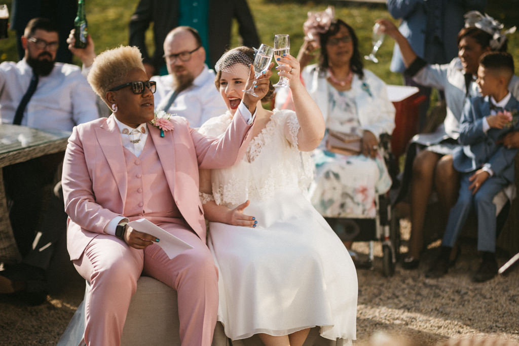
[[[400,220],[396,213],[393,213],[393,206],[389,193],[398,185],[398,163],[391,152],[391,136],[389,134],[380,135],[379,147],[383,149],[384,161],[392,180],[391,189],[383,195],[378,195],[375,199],[375,217],[363,215],[352,215],[351,217],[326,217],[324,219],[330,227],[339,223],[344,226],[345,232],[337,234],[343,241],[368,241],[370,252],[368,255],[367,266],[374,269],[374,242],[382,243],[383,252],[383,273],[389,277],[394,274],[395,264],[400,256]]]

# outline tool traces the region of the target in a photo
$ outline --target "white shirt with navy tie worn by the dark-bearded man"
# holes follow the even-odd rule
[[[33,72],[25,59],[0,64],[0,109],[3,123],[12,123]],[[40,76],[21,124],[35,129],[65,130],[97,119],[96,96],[78,66],[56,63]]]

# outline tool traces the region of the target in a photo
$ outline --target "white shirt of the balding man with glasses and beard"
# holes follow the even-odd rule
[[[214,71],[204,65],[202,72],[193,80],[193,85],[179,93],[175,102],[165,109],[166,113],[186,118],[192,128],[198,128],[207,119],[224,114],[227,106],[214,85],[214,77]],[[155,109],[157,109],[173,89],[173,77],[154,76],[151,80],[157,82],[155,92]]]

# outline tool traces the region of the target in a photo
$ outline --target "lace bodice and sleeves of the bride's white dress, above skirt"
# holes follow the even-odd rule
[[[226,113],[211,118],[199,132],[218,136],[231,121]],[[288,126],[289,138],[284,127]],[[234,206],[247,199],[266,200],[278,189],[299,188],[304,191],[313,178],[310,154],[297,148],[299,123],[292,110],[275,110],[265,128],[249,143],[243,159],[233,167],[211,171],[214,200]]]

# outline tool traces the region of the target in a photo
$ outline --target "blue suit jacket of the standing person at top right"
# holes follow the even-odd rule
[[[428,11],[436,1],[443,0],[387,0],[388,11],[394,19],[402,19],[399,31],[409,41],[417,56],[430,64],[445,64],[458,56],[458,32],[464,24],[463,15],[470,10],[483,12],[486,0],[447,0],[444,1],[443,17],[435,18],[443,22],[443,49],[445,61],[430,61],[425,57]],[[404,72],[402,53],[397,44],[394,45],[391,59],[392,72]]]

